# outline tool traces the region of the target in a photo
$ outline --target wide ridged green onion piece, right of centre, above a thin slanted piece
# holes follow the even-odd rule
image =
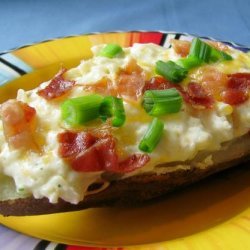
[[[182,97],[172,88],[166,90],[147,90],[143,98],[143,107],[149,115],[160,116],[177,113],[182,106]]]

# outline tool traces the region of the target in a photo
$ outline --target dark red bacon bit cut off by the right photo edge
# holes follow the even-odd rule
[[[229,75],[227,89],[222,92],[222,100],[230,105],[238,105],[249,98],[249,92],[250,74],[231,74]]]

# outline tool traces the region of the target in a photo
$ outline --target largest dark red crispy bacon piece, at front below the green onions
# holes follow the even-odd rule
[[[127,173],[144,166],[149,161],[149,156],[138,154],[119,162],[115,139],[107,134],[95,137],[89,132],[66,131],[58,135],[58,141],[59,155],[79,172]]]

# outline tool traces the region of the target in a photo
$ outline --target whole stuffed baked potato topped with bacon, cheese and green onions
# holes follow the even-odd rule
[[[1,104],[0,213],[137,204],[248,161],[249,91],[221,43],[95,46]]]

